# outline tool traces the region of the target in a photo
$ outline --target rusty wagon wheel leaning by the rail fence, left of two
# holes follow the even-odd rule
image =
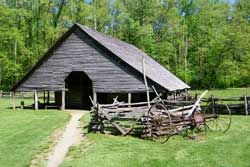
[[[165,143],[173,135],[174,129],[166,107],[161,103],[152,105],[147,117],[148,136],[154,141]]]

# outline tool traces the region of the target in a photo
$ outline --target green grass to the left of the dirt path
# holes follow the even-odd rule
[[[0,99],[0,167],[29,166],[51,145],[46,143],[48,136],[64,127],[70,116],[60,111],[8,109],[11,104],[9,99]]]

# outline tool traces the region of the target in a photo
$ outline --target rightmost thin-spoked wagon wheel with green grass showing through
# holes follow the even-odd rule
[[[210,131],[225,133],[231,126],[231,111],[227,104],[221,104],[225,110],[219,114],[216,109],[212,108],[210,103],[205,109],[205,124]]]

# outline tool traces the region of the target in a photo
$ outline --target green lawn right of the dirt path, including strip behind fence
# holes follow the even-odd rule
[[[192,91],[201,92],[201,91]],[[218,97],[250,94],[250,89],[209,92]],[[82,118],[87,124],[89,115]],[[233,116],[226,134],[209,132],[199,141],[172,137],[159,144],[131,136],[86,134],[78,146],[71,147],[61,167],[249,167],[250,116]]]

